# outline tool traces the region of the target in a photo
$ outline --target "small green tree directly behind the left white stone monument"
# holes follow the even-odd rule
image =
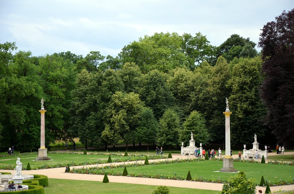
[[[205,123],[206,121],[200,112],[191,112],[183,124],[183,129],[180,132],[180,141],[184,142],[185,145],[188,145],[189,140],[191,139],[191,132],[193,132],[193,139],[197,143],[207,145],[211,140],[211,137],[207,131]]]

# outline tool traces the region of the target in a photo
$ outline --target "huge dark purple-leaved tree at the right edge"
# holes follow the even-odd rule
[[[294,148],[294,9],[264,25],[260,33],[261,96],[268,108],[266,123],[278,142]]]

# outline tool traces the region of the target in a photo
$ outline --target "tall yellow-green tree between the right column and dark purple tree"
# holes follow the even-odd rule
[[[231,140],[234,143],[250,143],[254,133],[258,137],[265,135],[263,119],[266,108],[260,98],[261,59],[234,59],[233,74],[228,81],[232,88],[229,107],[233,112],[231,119]],[[254,124],[253,124],[254,123]]]

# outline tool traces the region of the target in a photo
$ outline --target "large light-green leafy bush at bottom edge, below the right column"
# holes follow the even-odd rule
[[[223,185],[222,194],[255,194],[255,184],[246,178],[244,174],[239,173],[229,178]]]

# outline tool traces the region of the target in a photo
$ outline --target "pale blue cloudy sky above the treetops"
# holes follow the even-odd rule
[[[84,57],[116,57],[130,42],[161,32],[200,32],[215,46],[232,34],[258,43],[263,25],[293,8],[293,0],[0,0],[0,43],[16,42],[33,56]]]

